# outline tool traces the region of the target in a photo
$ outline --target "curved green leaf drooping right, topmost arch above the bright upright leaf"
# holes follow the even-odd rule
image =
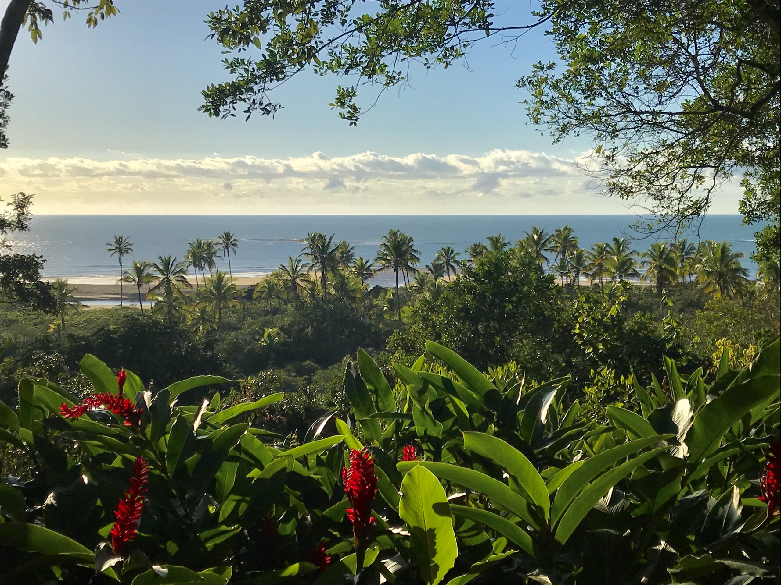
[[[464,433],[464,448],[487,457],[514,476],[526,491],[527,499],[542,510],[547,520],[551,511],[551,500],[545,481],[522,452],[500,438],[471,431]]]

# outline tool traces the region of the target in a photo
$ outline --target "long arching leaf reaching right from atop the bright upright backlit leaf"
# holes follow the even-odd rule
[[[449,463],[434,463],[432,461],[401,461],[397,467],[402,473],[412,470],[413,467],[422,465],[431,473],[445,480],[451,480],[464,488],[479,491],[487,495],[495,505],[515,516],[526,520],[537,530],[542,530],[542,523],[536,513],[533,512],[529,502],[508,488],[501,481],[494,480],[480,471],[470,470],[465,467],[450,465]]]

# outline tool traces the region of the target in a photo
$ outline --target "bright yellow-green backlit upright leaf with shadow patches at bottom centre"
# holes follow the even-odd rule
[[[437,477],[417,466],[401,482],[398,515],[410,530],[410,548],[417,558],[420,576],[437,585],[455,564],[458,544],[448,497]]]

